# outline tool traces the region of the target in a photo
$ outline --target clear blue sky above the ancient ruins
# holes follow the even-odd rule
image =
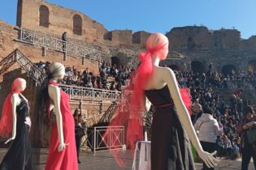
[[[15,25],[17,0],[0,0],[0,19]],[[256,35],[256,0],[48,0],[88,15],[109,31],[169,32],[203,25],[236,28],[241,37]]]

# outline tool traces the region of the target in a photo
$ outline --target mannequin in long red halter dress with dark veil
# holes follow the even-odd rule
[[[65,67],[59,62],[53,62],[49,67],[46,79],[46,91],[43,99],[46,103],[46,119],[50,121],[50,110],[55,113],[56,122],[50,136],[49,155],[46,160],[46,170],[78,170],[75,121],[69,106],[69,96],[60,90],[58,81],[65,75]]]

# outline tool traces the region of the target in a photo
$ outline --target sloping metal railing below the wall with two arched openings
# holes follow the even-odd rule
[[[56,51],[66,53],[66,55],[72,54],[79,57],[85,57],[90,60],[101,61],[101,52],[96,49],[91,49],[84,45],[78,45],[68,40],[63,41],[50,35],[33,32],[24,28],[19,28],[18,40],[32,45],[45,47],[46,49],[54,49]]]

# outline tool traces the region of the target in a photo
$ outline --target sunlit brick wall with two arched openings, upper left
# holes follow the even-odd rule
[[[17,25],[38,32],[54,33],[61,37],[67,32],[67,37],[80,40],[103,39],[107,32],[101,23],[90,19],[79,11],[72,11],[41,0],[18,1]],[[74,27],[75,26],[75,27]]]

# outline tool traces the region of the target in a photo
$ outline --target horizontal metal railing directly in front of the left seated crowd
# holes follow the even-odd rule
[[[114,102],[119,101],[121,92],[108,91],[89,87],[76,87],[60,84],[59,87],[65,91],[72,100],[89,100],[93,102]]]

